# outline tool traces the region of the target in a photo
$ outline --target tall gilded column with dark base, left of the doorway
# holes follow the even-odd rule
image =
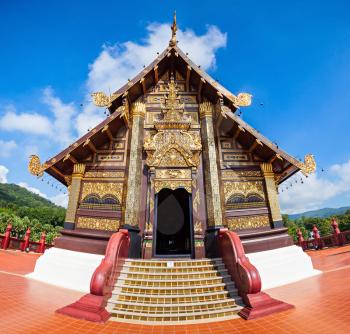
[[[146,105],[143,102],[135,102],[131,106],[132,128],[130,140],[130,157],[127,180],[127,194],[125,203],[125,215],[123,228],[130,233],[131,258],[141,257],[141,237],[139,235],[139,217],[141,202],[141,178],[142,178],[142,145],[143,124],[145,120]]]

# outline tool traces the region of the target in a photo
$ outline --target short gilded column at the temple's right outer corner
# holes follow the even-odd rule
[[[265,179],[266,194],[269,202],[273,228],[283,227],[282,215],[278,202],[278,193],[272,164],[263,162],[260,164],[260,168],[263,172]]]

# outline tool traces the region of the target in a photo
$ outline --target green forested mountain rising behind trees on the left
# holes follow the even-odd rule
[[[31,208],[50,207],[59,208],[46,198],[18,186],[17,184],[0,183],[0,207],[26,206]]]

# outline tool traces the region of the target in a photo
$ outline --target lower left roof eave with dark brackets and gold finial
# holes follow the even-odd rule
[[[99,146],[103,145],[106,141],[112,140],[113,133],[125,125],[125,122],[121,118],[121,111],[119,110],[108,116],[84,136],[45,163],[41,164],[38,157],[31,156],[30,172],[38,176],[42,176],[43,172],[46,172],[67,186],[67,176],[72,173],[74,163],[83,161],[93,151],[96,151]]]

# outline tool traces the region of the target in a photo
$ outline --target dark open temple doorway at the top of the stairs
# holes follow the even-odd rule
[[[191,195],[185,189],[162,189],[155,199],[154,256],[192,257]]]

